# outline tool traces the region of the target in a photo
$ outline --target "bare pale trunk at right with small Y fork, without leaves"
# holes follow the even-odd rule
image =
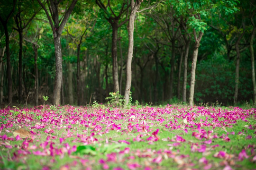
[[[195,29],[193,29],[193,34],[195,38],[195,46],[193,50],[192,66],[191,66],[191,81],[190,81],[190,96],[189,96],[189,105],[192,106],[194,103],[194,90],[195,90],[195,71],[196,71],[196,62],[198,56],[198,48],[200,46],[200,41],[203,33],[200,31],[197,37]]]

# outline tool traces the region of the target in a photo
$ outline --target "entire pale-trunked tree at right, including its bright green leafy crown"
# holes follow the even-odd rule
[[[189,96],[189,105],[193,105],[194,98],[194,87],[195,87],[195,71],[196,71],[196,62],[198,56],[198,49],[200,46],[201,38],[205,30],[207,30],[206,18],[210,16],[210,11],[215,12],[214,10],[224,10],[226,15],[232,14],[238,11],[236,7],[237,1],[229,1],[228,3],[223,2],[222,0],[215,3],[212,0],[195,0],[186,2],[185,0],[172,0],[173,6],[177,11],[179,16],[189,17],[188,23],[193,29],[194,36],[194,49],[192,54],[192,65],[191,65],[191,81],[190,81],[190,96]],[[204,18],[201,18],[204,17]]]

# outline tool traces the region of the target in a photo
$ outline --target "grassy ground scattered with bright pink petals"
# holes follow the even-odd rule
[[[254,168],[254,108],[41,105],[0,110],[0,169]]]

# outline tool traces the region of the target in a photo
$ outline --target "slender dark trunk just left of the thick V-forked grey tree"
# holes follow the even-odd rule
[[[35,105],[38,106],[38,68],[37,68],[37,45],[33,43],[34,49],[34,68],[35,68]]]

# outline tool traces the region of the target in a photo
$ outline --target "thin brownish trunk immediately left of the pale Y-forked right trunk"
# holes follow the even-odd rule
[[[189,53],[190,41],[186,41],[185,44],[185,56],[184,56],[184,73],[183,73],[183,94],[182,101],[186,102],[187,98],[187,70],[188,70],[188,53]]]

